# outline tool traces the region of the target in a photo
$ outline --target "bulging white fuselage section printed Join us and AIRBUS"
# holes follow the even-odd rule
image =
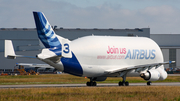
[[[163,62],[159,46],[145,37],[87,36],[72,41],[70,48],[82,67],[82,76],[87,77],[104,75],[106,70]]]

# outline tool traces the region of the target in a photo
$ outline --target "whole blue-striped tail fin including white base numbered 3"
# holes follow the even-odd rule
[[[55,34],[48,20],[42,12],[33,12],[38,37],[46,48],[42,51],[41,58],[63,56],[71,58],[70,41]],[[51,52],[49,52],[51,51]],[[53,53],[52,53],[53,52]],[[47,53],[49,53],[47,55]],[[46,54],[46,56],[44,56]],[[40,57],[39,57],[40,58]]]

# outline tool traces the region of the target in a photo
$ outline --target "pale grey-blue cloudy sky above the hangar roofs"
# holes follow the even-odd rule
[[[180,34],[180,0],[0,0],[0,28],[35,28],[33,11],[63,28],[150,28]]]

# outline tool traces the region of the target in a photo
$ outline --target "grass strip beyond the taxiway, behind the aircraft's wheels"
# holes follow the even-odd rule
[[[127,77],[129,83],[145,83],[147,81],[140,77]],[[47,75],[18,75],[18,76],[0,76],[0,85],[18,85],[18,84],[83,84],[89,81],[84,77],[77,77],[68,74],[47,74]],[[121,77],[109,77],[103,82],[97,83],[118,83],[122,81]],[[156,82],[180,82],[180,76],[168,76],[164,81]]]

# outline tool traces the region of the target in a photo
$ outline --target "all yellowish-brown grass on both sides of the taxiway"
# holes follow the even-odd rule
[[[122,78],[107,78],[98,83],[118,83]],[[0,76],[1,85],[86,83],[89,79],[67,74]],[[130,83],[147,82],[127,77]],[[159,82],[180,82],[180,76],[169,76]],[[180,86],[123,87],[49,87],[0,89],[0,101],[180,101]]]

